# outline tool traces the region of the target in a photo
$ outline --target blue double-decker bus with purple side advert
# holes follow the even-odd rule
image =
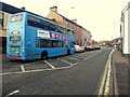
[[[74,30],[22,12],[9,16],[6,56],[32,60],[75,53]]]

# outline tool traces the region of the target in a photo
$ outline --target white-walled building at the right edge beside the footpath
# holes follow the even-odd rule
[[[121,11],[120,50],[123,56],[130,56],[130,2]]]

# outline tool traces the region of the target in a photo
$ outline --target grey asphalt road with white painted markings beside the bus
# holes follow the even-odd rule
[[[3,59],[2,95],[98,95],[110,51],[34,61]]]

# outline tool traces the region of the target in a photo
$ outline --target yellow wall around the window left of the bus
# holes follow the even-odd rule
[[[6,37],[8,19],[11,14],[2,11],[0,12],[3,13],[3,28],[0,29],[0,37]]]

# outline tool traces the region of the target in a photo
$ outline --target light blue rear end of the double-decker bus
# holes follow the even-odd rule
[[[9,58],[25,59],[25,14],[11,15],[6,31],[6,54]]]

